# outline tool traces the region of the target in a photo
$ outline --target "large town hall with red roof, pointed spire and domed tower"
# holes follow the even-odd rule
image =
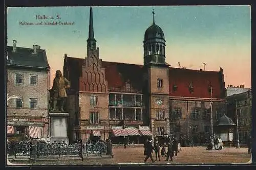
[[[147,136],[172,133],[199,139],[209,133],[210,101],[214,122],[225,112],[223,70],[170,67],[164,33],[155,18],[145,31],[143,47],[144,65],[102,61],[90,9],[87,57],[65,54],[64,59],[63,73],[71,81],[70,139],[115,137],[118,143],[127,137],[138,143]]]

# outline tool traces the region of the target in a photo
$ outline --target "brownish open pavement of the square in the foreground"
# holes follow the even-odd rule
[[[35,164],[35,165],[51,165],[51,164],[144,164],[143,146],[123,146],[113,147],[114,158],[103,156],[102,158],[90,159],[66,159],[59,157],[48,161],[36,161],[28,163],[23,161],[9,160],[16,164]],[[251,155],[247,153],[247,148],[225,147],[222,150],[206,150],[206,147],[182,147],[181,152],[177,157],[174,157],[173,162],[166,162],[165,157],[160,157],[160,161],[151,163],[148,159],[146,164],[232,164],[232,163],[250,163]],[[155,160],[155,152],[152,153]],[[64,160],[65,159],[65,160]]]

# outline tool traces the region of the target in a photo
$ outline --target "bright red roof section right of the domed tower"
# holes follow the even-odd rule
[[[169,93],[173,97],[210,98],[210,84],[212,98],[225,98],[225,83],[221,71],[202,71],[181,68],[169,68]],[[190,83],[194,92],[189,91]],[[174,85],[177,89],[174,89]]]

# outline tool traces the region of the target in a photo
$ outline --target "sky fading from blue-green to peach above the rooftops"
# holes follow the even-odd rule
[[[94,36],[103,61],[143,65],[145,30],[155,23],[164,32],[171,67],[219,71],[226,86],[251,87],[250,6],[93,7]],[[7,9],[8,46],[45,49],[51,67],[63,71],[64,54],[87,56],[90,7],[11,7]],[[37,20],[36,15],[53,16]],[[59,18],[57,19],[57,15]],[[73,25],[35,25],[61,21]],[[20,25],[20,23],[34,25]],[[51,83],[52,85],[52,83]]]

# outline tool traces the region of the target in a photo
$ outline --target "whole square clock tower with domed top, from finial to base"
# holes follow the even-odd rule
[[[153,24],[146,29],[143,44],[148,124],[154,136],[169,134],[169,64],[165,62],[164,34],[155,24],[154,11]]]

